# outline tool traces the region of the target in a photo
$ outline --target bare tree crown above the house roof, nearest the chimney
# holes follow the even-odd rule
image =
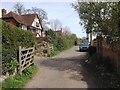
[[[20,2],[17,2],[15,5],[14,5],[14,12],[17,13],[17,14],[23,14],[25,11],[25,7],[22,3]]]

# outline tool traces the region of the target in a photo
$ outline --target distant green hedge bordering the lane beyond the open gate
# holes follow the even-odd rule
[[[75,40],[77,38],[75,34],[61,36],[61,34],[57,34],[51,29],[46,31],[46,36],[48,42],[52,43],[54,46],[54,51],[51,52],[49,56],[53,56],[59,51],[72,47],[75,45]]]

